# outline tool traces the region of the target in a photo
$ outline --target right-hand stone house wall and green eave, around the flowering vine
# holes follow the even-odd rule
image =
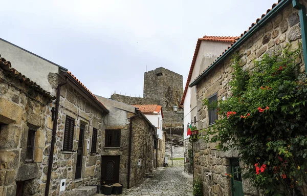
[[[291,43],[290,50],[299,47],[302,42],[304,53],[306,52],[306,40],[304,28],[306,21],[306,1],[300,1],[302,5],[294,5],[292,1],[279,1],[269,9],[266,14],[253,23],[248,31],[245,31],[225,52],[223,52],[200,76],[196,77],[189,86],[196,86],[197,110],[196,126],[199,129],[208,127],[214,121],[209,120],[207,106],[202,105],[205,98],[224,99],[231,96],[229,81],[231,80],[232,55],[237,53],[240,57],[239,64],[244,69],[253,69],[253,59],[261,59],[262,55],[281,54],[287,43]],[[295,8],[294,8],[295,7]],[[303,9],[303,10],[302,10]],[[303,17],[299,17],[299,14]],[[301,72],[305,72],[307,56],[297,59],[297,66]],[[218,117],[217,117],[218,118]],[[242,188],[237,186],[234,190],[230,178],[225,173],[230,172],[231,165],[238,165],[237,151],[223,153],[217,151],[215,143],[205,143],[203,140],[193,142],[194,151],[194,177],[203,180],[204,195],[232,195],[233,192],[241,192],[237,195],[260,195],[249,181],[242,182]],[[242,165],[241,165],[242,166]],[[239,190],[241,189],[241,190]]]

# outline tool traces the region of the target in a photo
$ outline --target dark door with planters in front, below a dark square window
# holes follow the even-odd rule
[[[119,181],[120,156],[101,156],[101,184],[113,184]]]

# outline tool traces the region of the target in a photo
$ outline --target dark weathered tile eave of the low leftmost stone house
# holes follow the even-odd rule
[[[19,79],[19,81],[24,82],[26,85],[31,86],[31,88],[37,92],[39,92],[43,96],[47,96],[51,99],[54,99],[55,97],[50,95],[50,92],[43,90],[40,85],[36,84],[36,82],[33,82],[29,78],[27,78],[25,75],[21,74],[14,68],[12,68],[12,64],[10,61],[7,61],[5,58],[1,57],[0,55],[0,69],[2,69],[6,74]]]

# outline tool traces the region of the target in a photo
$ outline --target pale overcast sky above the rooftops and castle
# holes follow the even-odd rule
[[[0,37],[67,68],[94,94],[142,97],[146,66],[185,85],[198,38],[239,36],[276,2],[10,0]]]

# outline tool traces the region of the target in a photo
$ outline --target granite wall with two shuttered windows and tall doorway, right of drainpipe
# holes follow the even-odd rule
[[[57,120],[56,142],[54,151],[54,161],[51,173],[51,190],[52,195],[70,195],[71,190],[85,185],[99,185],[100,184],[100,170],[101,170],[101,147],[102,133],[105,125],[102,123],[103,113],[98,106],[89,102],[84,98],[78,90],[74,89],[72,85],[65,84],[61,88],[59,114]],[[69,116],[75,119],[74,128],[74,143],[73,151],[63,151],[63,137],[66,117]],[[82,173],[81,179],[75,179],[77,149],[80,134],[80,125],[85,125],[83,136],[83,157],[82,157]],[[52,119],[47,117],[46,126],[52,129]],[[97,133],[97,154],[90,154],[92,146],[93,128],[98,130]],[[87,149],[87,142],[90,141],[90,148]],[[46,182],[49,151],[43,151],[42,164],[42,181]],[[60,180],[66,179],[65,191],[59,192]]]

